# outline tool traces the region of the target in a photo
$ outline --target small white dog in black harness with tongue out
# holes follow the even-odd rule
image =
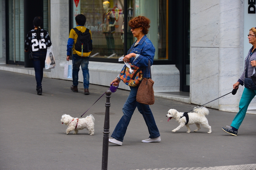
[[[194,132],[197,132],[199,129],[201,129],[200,127],[200,124],[201,124],[204,128],[209,130],[207,133],[211,133],[211,126],[209,126],[208,120],[205,117],[205,115],[208,115],[208,114],[209,114],[209,110],[206,107],[198,107],[198,108],[195,107],[194,112],[188,113],[188,117],[189,117],[188,124],[185,124],[187,119],[185,116],[183,116],[183,112],[178,112],[175,109],[170,109],[166,117],[169,118],[168,122],[170,119],[175,118],[176,122],[180,123],[180,126],[178,126],[176,129],[173,129],[172,132],[176,132],[177,130],[181,129],[181,127],[185,125],[188,128],[187,133],[190,133],[189,125],[195,123],[197,129],[194,130]],[[183,117],[181,118],[181,116]]]

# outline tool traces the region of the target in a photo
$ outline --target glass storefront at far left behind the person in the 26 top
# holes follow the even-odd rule
[[[26,57],[24,52],[25,37],[27,32],[33,29],[34,17],[42,16],[44,19],[43,28],[49,30],[49,0],[38,0],[33,1],[33,3],[26,0],[9,0],[7,5],[7,64],[24,65]]]

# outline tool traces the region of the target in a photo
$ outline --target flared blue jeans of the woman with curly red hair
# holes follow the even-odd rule
[[[155,119],[154,116],[147,104],[141,104],[136,101],[136,94],[138,91],[138,86],[136,87],[131,87],[131,92],[124,103],[123,107],[123,116],[119,120],[119,122],[116,125],[116,128],[113,131],[113,134],[111,135],[112,138],[123,142],[124,140],[124,135],[126,133],[127,127],[129,125],[129,122],[132,118],[133,112],[135,108],[137,107],[139,112],[142,114],[147,128],[148,128],[148,133],[150,134],[150,138],[157,138],[160,136],[160,133],[157,128],[157,124],[155,124]]]

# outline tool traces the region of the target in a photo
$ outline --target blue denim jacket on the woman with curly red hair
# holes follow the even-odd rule
[[[127,54],[135,53],[136,57],[130,59],[130,63],[137,67],[145,67],[143,72],[143,77],[148,78],[150,76],[150,72],[147,73],[148,60],[150,61],[150,66],[153,64],[154,56],[155,56],[155,47],[152,42],[147,38],[146,35],[142,37],[139,43],[135,46],[135,43],[132,44]]]

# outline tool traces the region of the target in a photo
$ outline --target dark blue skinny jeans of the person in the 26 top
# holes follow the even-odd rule
[[[35,80],[37,81],[37,87],[42,86],[43,69],[45,67],[46,51],[33,52],[33,65],[35,69]]]

